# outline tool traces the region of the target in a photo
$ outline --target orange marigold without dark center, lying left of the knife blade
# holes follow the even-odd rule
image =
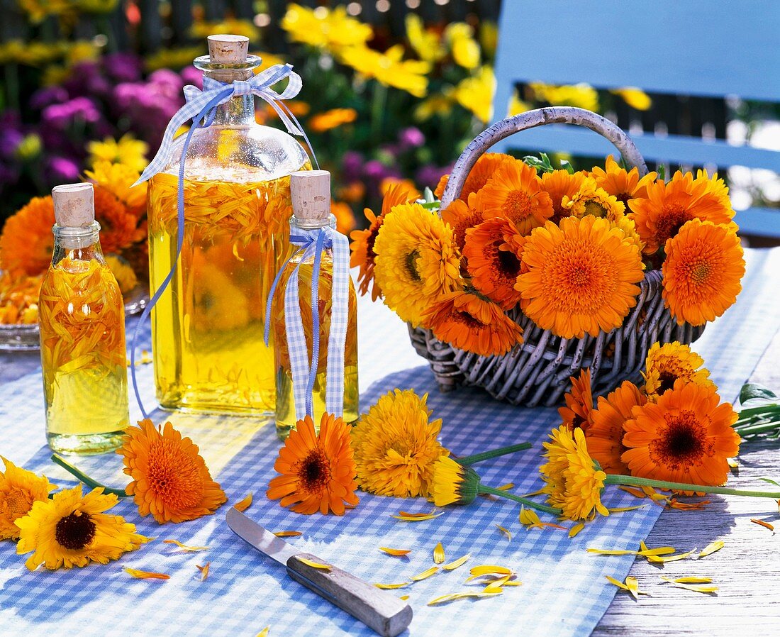
[[[194,520],[214,513],[227,501],[197,445],[189,437],[182,438],[170,422],[161,429],[146,418],[125,433],[116,453],[133,479],[125,491],[135,496],[142,517],[151,513],[158,524]]]

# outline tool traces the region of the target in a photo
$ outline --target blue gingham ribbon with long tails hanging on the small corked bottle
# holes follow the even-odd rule
[[[319,281],[322,251],[331,250],[333,272],[331,286],[331,325],[328,332],[328,366],[325,376],[325,411],[341,416],[344,411],[344,348],[346,328],[349,321],[349,241],[338,230],[331,227],[317,230],[296,229],[290,234],[290,243],[300,246],[279,271],[265,311],[265,344],[271,333],[271,304],[282,272],[293,258],[300,256],[285,287],[285,328],[290,369],[293,372],[293,395],[295,397],[296,419],[304,415],[314,418],[314,380],[320,363],[320,299]],[[300,310],[298,272],[300,265],[312,261],[311,272],[311,358],[309,358],[303,319]]]

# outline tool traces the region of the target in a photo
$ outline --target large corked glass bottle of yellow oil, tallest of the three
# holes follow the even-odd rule
[[[224,84],[248,80],[261,63],[248,40],[210,36],[195,60]],[[172,269],[177,176],[186,136],[148,190],[151,290]],[[158,401],[169,409],[272,415],[273,344],[265,347],[265,301],[287,254],[289,175],[310,167],[288,133],[255,121],[254,97],[217,107],[193,132],[185,158],[184,238],[176,276],[152,311]]]

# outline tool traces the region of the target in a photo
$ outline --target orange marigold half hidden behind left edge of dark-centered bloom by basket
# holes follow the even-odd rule
[[[622,454],[623,425],[631,418],[633,407],[647,403],[647,398],[639,388],[626,380],[605,398],[598,397],[597,407],[590,412],[590,425],[585,431],[587,447],[594,460],[601,464],[607,473],[627,474]]]

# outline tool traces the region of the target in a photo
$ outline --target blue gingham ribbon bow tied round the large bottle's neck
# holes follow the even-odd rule
[[[278,93],[272,87],[285,78],[289,80],[287,86],[284,91]],[[193,126],[191,126],[190,130],[186,133],[182,147],[182,155],[179,159],[179,184],[176,195],[178,227],[176,238],[176,261],[173,263],[171,271],[165,276],[165,279],[163,279],[161,285],[154,292],[154,295],[152,295],[149,303],[147,303],[144,308],[144,313],[141,315],[140,321],[137,322],[136,329],[133,332],[133,345],[130,348],[130,375],[133,377],[133,391],[136,394],[138,407],[140,407],[140,411],[144,415],[144,418],[148,418],[149,415],[144,409],[144,404],[141,401],[136,380],[136,343],[140,333],[140,326],[147,321],[152,308],[154,308],[154,305],[157,304],[160,297],[171,283],[171,279],[176,274],[179,257],[182,254],[184,240],[184,162],[187,155],[187,149],[190,148],[193,132],[197,128],[211,126],[215,117],[215,109],[218,105],[225,104],[225,102],[229,101],[231,98],[239,97],[241,95],[257,95],[257,97],[271,105],[271,108],[275,110],[279,119],[284,123],[288,133],[303,137],[309,148],[314,165],[319,167],[317,164],[317,157],[314,155],[314,149],[311,148],[311,143],[307,134],[303,131],[303,127],[296,119],[296,116],[293,115],[293,112],[291,112],[287,105],[283,103],[283,100],[296,97],[302,86],[303,82],[300,79],[300,75],[293,72],[292,65],[276,64],[265,69],[261,73],[257,73],[257,75],[250,78],[250,80],[235,80],[230,84],[222,84],[222,82],[211,77],[204,77],[203,91],[200,91],[199,88],[194,86],[188,85],[184,87],[186,104],[183,105],[183,107],[171,118],[171,121],[168,122],[157,154],[154,155],[154,159],[152,159],[146,169],[144,169],[144,173],[141,174],[137,182],[133,183],[133,186],[136,186],[139,183],[150,180],[154,175],[165,170],[168,166],[168,162],[171,161],[173,141],[174,137],[176,137],[176,132],[191,119]]]

